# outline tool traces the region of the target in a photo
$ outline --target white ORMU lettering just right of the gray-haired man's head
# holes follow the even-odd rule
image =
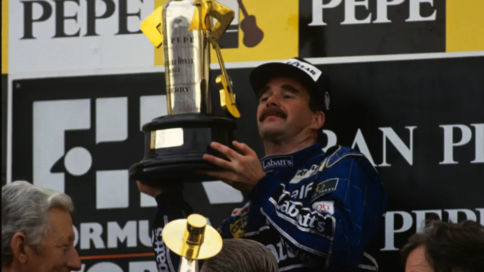
[[[80,223],[79,226],[79,230],[73,226],[74,246],[80,241],[79,250],[117,248],[118,243],[126,243],[126,247],[138,247],[140,244],[147,248],[152,246],[148,220],[128,221],[124,227],[117,222],[107,222],[107,235],[102,235],[104,226],[97,222]],[[107,241],[103,237],[107,237]]]

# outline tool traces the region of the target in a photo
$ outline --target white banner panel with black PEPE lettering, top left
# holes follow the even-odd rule
[[[153,65],[153,45],[140,24],[154,0],[9,4],[9,73]]]

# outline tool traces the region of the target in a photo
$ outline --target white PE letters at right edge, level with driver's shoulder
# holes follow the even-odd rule
[[[470,163],[484,163],[484,123],[470,124],[475,130],[475,159]],[[439,125],[444,129],[444,160],[439,164],[458,164],[454,161],[454,148],[469,144],[472,130],[464,124]],[[459,142],[454,141],[454,131],[459,129],[462,137]]]

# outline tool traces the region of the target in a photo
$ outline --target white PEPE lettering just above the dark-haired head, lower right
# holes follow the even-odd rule
[[[387,212],[385,215],[385,246],[381,249],[381,251],[396,251],[399,250],[395,246],[395,234],[397,233],[404,233],[410,231],[412,227],[412,233],[420,232],[425,227],[425,220],[428,215],[437,216],[436,219],[442,220],[443,215],[447,215],[448,221],[450,222],[460,222],[462,220],[471,220],[474,222],[479,222],[482,226],[484,226],[484,208],[477,208],[474,209],[476,212],[469,210],[469,209],[446,209],[446,210],[420,210],[420,211],[411,211],[414,214],[405,212],[405,211],[391,211]],[[477,214],[479,215],[480,221],[477,220]],[[464,217],[458,220],[458,215],[463,215]],[[395,229],[395,218],[400,217],[402,221],[401,227]],[[403,246],[403,244],[399,245]]]

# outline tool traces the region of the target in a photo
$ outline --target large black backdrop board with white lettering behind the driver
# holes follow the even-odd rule
[[[484,224],[484,57],[317,66],[333,85],[327,147],[365,153],[388,190],[380,271],[403,271],[398,249],[425,218]],[[235,136],[263,156],[251,70],[228,70],[241,105]],[[141,125],[166,114],[161,86],[160,73],[13,82],[12,178],[73,197],[84,271],[155,271],[156,208],[128,168],[143,156]],[[214,226],[243,201],[218,181],[189,185],[185,198]]]

